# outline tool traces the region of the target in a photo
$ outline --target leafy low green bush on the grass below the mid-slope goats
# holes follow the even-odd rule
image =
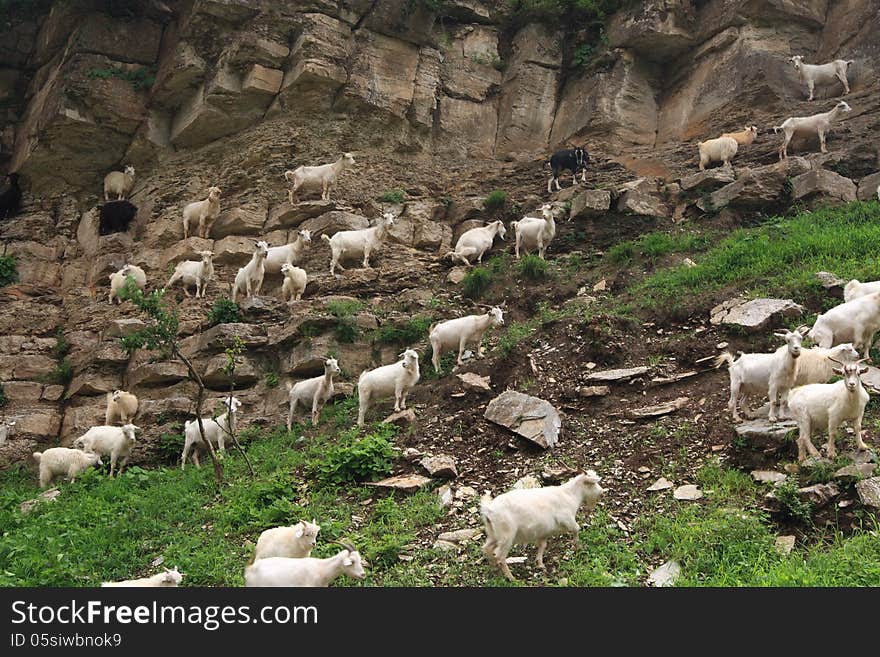
[[[311,474],[325,484],[367,481],[391,472],[396,456],[390,438],[396,427],[381,425],[363,438],[357,429],[339,435],[339,443],[323,450],[320,458],[309,465]]]

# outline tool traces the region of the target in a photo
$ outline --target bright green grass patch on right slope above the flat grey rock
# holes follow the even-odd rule
[[[630,291],[645,308],[730,285],[752,294],[798,298],[821,290],[817,271],[864,280],[878,268],[880,203],[857,201],[736,230],[709,249],[696,267],[660,271]]]

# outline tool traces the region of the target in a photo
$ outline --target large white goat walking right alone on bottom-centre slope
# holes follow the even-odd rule
[[[490,563],[513,581],[507,554],[520,543],[538,546],[538,568],[544,569],[547,540],[557,534],[571,533],[579,544],[578,509],[586,504],[592,511],[605,492],[600,477],[592,470],[569,479],[561,486],[520,488],[492,499],[487,493],[480,502],[480,516],[486,527],[483,553]]]

